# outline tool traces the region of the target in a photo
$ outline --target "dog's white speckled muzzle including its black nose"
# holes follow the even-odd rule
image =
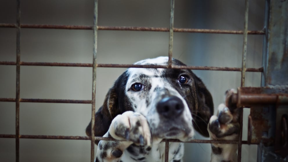
[[[152,135],[158,138],[176,138],[181,141],[192,138],[194,134],[192,116],[185,101],[169,93],[158,93],[156,96],[160,100],[146,116]]]

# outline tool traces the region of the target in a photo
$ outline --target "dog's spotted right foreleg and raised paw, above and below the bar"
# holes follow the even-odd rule
[[[210,118],[208,132],[211,140],[238,140],[240,109],[230,102],[233,93],[234,89],[226,91],[225,104],[220,104],[217,114]],[[237,161],[237,144],[211,144],[211,147],[211,162]]]

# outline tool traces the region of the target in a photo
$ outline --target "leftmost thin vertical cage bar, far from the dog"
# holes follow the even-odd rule
[[[19,162],[19,109],[20,109],[20,0],[16,1],[16,162]]]

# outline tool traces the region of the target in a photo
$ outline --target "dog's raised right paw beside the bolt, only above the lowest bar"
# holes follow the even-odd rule
[[[217,115],[210,118],[208,132],[212,140],[236,140],[240,129],[239,108],[230,102],[234,89],[226,91],[225,104],[218,106]]]

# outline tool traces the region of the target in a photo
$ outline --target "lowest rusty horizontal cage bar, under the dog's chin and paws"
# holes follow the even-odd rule
[[[15,134],[0,134],[0,138],[15,138]],[[91,140],[88,136],[49,136],[49,135],[19,135],[19,138],[30,138],[30,139],[69,139],[69,140]],[[95,137],[95,141],[127,141],[127,140],[116,140],[112,137]],[[182,142],[178,139],[163,139],[161,142],[165,142],[168,140],[169,142]],[[184,143],[228,143],[228,144],[237,144],[238,141],[219,141],[219,140],[190,140]],[[242,141],[243,144],[248,144],[247,141]],[[251,143],[258,144],[258,143]]]

